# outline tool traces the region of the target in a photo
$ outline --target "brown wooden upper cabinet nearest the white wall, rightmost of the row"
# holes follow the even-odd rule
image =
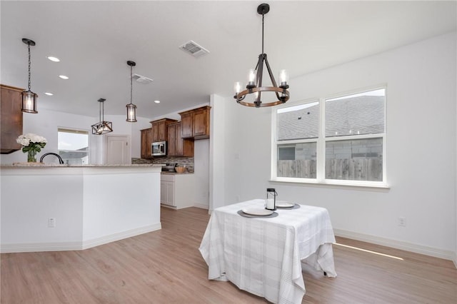
[[[210,110],[211,106],[203,106],[179,113],[182,123],[182,138],[209,138]]]

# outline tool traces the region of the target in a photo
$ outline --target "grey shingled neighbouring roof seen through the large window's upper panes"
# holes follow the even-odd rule
[[[384,132],[384,96],[326,101],[326,136]],[[278,114],[278,140],[318,137],[319,105]]]

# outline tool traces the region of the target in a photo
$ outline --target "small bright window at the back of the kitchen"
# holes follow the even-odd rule
[[[89,131],[59,128],[57,136],[59,156],[70,165],[89,163]]]

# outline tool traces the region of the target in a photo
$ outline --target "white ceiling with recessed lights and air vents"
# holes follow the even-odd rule
[[[39,94],[39,111],[97,117],[97,100],[106,98],[105,114],[123,115],[130,102],[128,60],[136,61],[134,74],[154,79],[134,82],[137,116],[191,108],[212,93],[232,96],[233,82],[246,81],[261,54],[261,3],[2,0],[1,83],[26,88],[27,46],[21,39],[28,38],[36,42],[31,90]],[[291,78],[457,27],[456,1],[267,3],[265,53],[275,73],[287,69]],[[194,58],[181,51],[190,40],[210,53]],[[293,87],[289,91],[293,99]]]

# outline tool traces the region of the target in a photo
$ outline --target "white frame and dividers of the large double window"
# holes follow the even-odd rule
[[[384,130],[383,133],[363,134],[363,135],[347,135],[347,136],[332,136],[326,137],[325,126],[326,126],[326,100],[350,96],[357,93],[363,93],[368,91],[376,91],[384,89]],[[353,186],[363,188],[389,188],[387,183],[387,97],[388,90],[387,85],[370,86],[366,88],[359,88],[356,90],[345,91],[341,93],[333,93],[328,96],[322,96],[319,98],[308,98],[300,101],[294,101],[292,103],[286,103],[281,106],[276,106],[271,110],[271,177],[270,181],[274,182],[285,182],[285,183],[301,183],[301,184],[315,184],[315,185],[328,185],[328,186]],[[283,140],[278,141],[277,139],[277,118],[278,109],[288,108],[291,106],[299,106],[305,103],[313,103],[318,101],[319,104],[319,123],[318,123],[318,138],[306,138],[298,140]],[[382,138],[383,142],[383,168],[382,168],[382,181],[353,181],[353,180],[338,180],[338,179],[326,179],[326,143],[328,141],[350,141],[355,139],[367,139],[367,138]],[[316,178],[293,178],[293,177],[278,177],[277,166],[278,166],[278,146],[284,144],[296,144],[296,143],[309,143],[316,142]]]

